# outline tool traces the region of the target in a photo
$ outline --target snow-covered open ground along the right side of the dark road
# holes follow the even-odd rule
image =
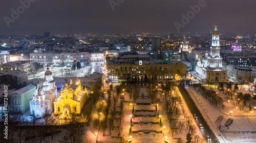
[[[191,88],[186,87],[186,90],[190,93],[191,98],[195,103],[198,103],[198,107],[207,120],[208,125],[212,131],[221,139],[218,134],[216,120],[219,116],[223,116],[221,125],[224,126],[227,119],[232,119],[232,124],[224,132],[221,132],[226,142],[256,142],[256,117],[233,117],[229,116],[229,113],[224,114],[225,110],[229,110],[230,105],[227,105],[226,109],[219,110],[212,106],[206,99]],[[226,105],[226,104],[225,104]],[[235,111],[235,110],[234,110]],[[233,111],[233,113],[234,113]],[[229,111],[226,111],[229,112]],[[231,113],[232,114],[232,113]],[[246,113],[243,112],[243,115]],[[211,126],[213,124],[214,126]],[[241,138],[241,139],[240,139]]]

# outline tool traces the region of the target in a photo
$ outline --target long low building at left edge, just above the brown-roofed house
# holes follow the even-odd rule
[[[30,74],[35,72],[35,65],[35,61],[14,61],[0,65],[0,70],[2,73],[20,70]]]

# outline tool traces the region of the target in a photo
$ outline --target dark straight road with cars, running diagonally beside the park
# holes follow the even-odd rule
[[[200,129],[199,124],[203,125],[204,129],[200,129],[200,130],[201,130],[201,133],[204,136],[204,138],[206,140],[208,140],[206,135],[209,135],[210,138],[211,138],[211,141],[208,141],[208,142],[213,142],[213,143],[216,142],[216,143],[218,143],[219,141],[215,140],[215,138],[217,138],[217,137],[215,136],[214,133],[211,132],[210,128],[206,124],[206,121],[204,120],[204,118],[202,117],[200,111],[198,110],[196,104],[193,102],[193,100],[189,96],[188,92],[184,88],[184,85],[178,85],[178,88],[180,89],[180,93],[182,94],[183,99],[185,100],[185,102],[187,104],[187,107],[189,108],[189,110],[192,113],[193,117],[194,117],[194,114],[197,115],[198,118],[196,119],[196,123],[197,123],[199,129]]]

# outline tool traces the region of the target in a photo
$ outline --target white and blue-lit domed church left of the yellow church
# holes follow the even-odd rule
[[[42,88],[38,81],[33,99],[29,101],[30,115],[40,118],[44,117],[46,114],[51,114],[53,112],[53,101],[57,96],[57,87],[55,86],[49,65],[47,65],[47,71],[45,72],[45,80],[42,83]]]

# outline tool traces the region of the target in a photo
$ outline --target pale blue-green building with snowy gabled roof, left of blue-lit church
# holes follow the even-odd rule
[[[32,99],[35,93],[36,86],[29,84],[27,87],[12,92],[9,95],[10,105],[8,106],[10,112],[25,113],[29,110],[29,100]]]

